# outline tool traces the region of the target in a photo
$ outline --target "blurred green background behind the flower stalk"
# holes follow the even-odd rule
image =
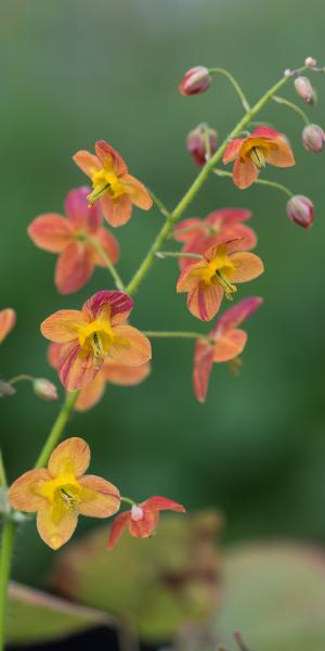
[[[46,375],[47,343],[39,323],[98,290],[112,289],[105,270],[87,288],[60,296],[53,285],[55,256],[26,235],[31,219],[62,212],[66,192],[84,184],[72,162],[78,149],[106,139],[131,173],[172,207],[197,169],[184,141],[208,120],[224,136],[240,104],[223,78],[197,98],[178,90],[197,64],[224,66],[257,99],[286,67],[307,55],[325,63],[325,5],[309,0],[4,0],[1,5],[1,307],[16,309],[15,331],[1,347],[1,375]],[[324,78],[312,120],[322,124]],[[295,98],[288,88],[288,98]],[[154,342],[151,378],[135,388],[109,386],[92,411],[77,414],[67,434],[84,437],[92,471],[126,495],[167,495],[188,509],[219,507],[225,541],[296,537],[325,542],[324,490],[324,158],[304,152],[302,123],[286,107],[269,105],[262,118],[289,137],[297,166],[268,169],[316,206],[309,232],[285,214],[285,197],[271,189],[238,191],[211,178],[186,216],[225,206],[251,208],[258,253],[266,271],[240,289],[260,294],[263,308],[247,323],[249,342],[239,378],[214,366],[209,398],[192,392],[191,342]],[[324,122],[323,122],[324,126]],[[161,224],[135,210],[115,231],[120,272],[129,279]],[[174,260],[157,261],[136,295],[132,322],[148,330],[191,330],[198,323],[174,292]],[[63,392],[61,392],[61,397]],[[57,413],[21,384],[3,399],[1,447],[10,478],[29,469]],[[80,522],[82,527],[91,522]],[[16,544],[15,577],[42,585],[51,552],[34,523]]]

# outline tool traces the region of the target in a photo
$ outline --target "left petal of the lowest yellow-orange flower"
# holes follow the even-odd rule
[[[29,470],[18,477],[9,488],[8,499],[17,511],[34,513],[47,503],[47,500],[38,495],[41,486],[51,480],[44,468]]]

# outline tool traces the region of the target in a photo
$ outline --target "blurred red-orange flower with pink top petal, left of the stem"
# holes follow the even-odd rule
[[[34,244],[51,253],[58,253],[55,268],[55,285],[62,294],[77,292],[91,278],[95,266],[105,263],[88,241],[91,237],[115,264],[119,245],[112,233],[102,227],[99,206],[89,207],[90,188],[70,190],[65,199],[66,217],[47,213],[36,217],[28,227]]]

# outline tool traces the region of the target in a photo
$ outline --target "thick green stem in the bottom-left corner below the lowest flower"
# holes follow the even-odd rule
[[[5,646],[5,611],[15,531],[16,524],[5,518],[0,550],[0,651],[4,651]]]

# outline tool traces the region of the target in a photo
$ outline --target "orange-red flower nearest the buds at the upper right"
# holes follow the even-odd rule
[[[266,163],[275,167],[295,165],[291,148],[284,133],[269,127],[259,127],[247,138],[232,140],[222,161],[225,165],[235,161],[233,180],[240,190],[253,183]]]

